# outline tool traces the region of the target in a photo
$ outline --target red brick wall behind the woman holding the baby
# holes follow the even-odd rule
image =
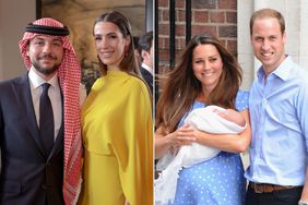
[[[169,69],[169,1],[158,0],[158,72]],[[186,1],[176,2],[176,64],[186,45]],[[157,21],[157,20],[156,20]],[[191,36],[212,33],[237,55],[237,0],[191,0]]]

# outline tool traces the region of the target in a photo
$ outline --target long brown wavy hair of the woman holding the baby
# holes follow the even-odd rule
[[[194,76],[192,70],[192,53],[199,45],[215,46],[223,61],[222,75],[206,99],[206,105],[235,108],[235,98],[241,84],[241,69],[216,37],[201,34],[189,41],[178,67],[167,73],[166,79],[164,76],[166,81],[156,106],[156,128],[174,132],[202,92],[201,82]]]

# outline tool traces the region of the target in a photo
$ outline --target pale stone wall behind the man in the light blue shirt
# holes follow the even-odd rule
[[[249,20],[253,11],[272,8],[286,21],[286,53],[308,70],[308,1],[307,0],[238,0],[238,60],[244,69],[242,88],[249,89],[260,62],[253,58],[250,45]]]

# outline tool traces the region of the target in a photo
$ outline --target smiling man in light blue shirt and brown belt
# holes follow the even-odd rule
[[[308,204],[308,73],[284,52],[280,12],[256,11],[250,35],[262,67],[249,97],[252,143],[246,205]]]

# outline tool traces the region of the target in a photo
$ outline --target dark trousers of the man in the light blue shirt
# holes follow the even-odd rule
[[[271,193],[254,193],[248,186],[245,205],[297,205],[300,198],[303,186],[292,190],[273,191]]]

